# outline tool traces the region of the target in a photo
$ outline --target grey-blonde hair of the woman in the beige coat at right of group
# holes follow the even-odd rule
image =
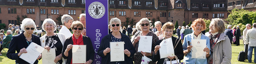
[[[214,18],[211,23],[212,22],[214,24],[214,28],[216,28],[219,33],[223,33],[225,31],[225,22],[222,19]]]

